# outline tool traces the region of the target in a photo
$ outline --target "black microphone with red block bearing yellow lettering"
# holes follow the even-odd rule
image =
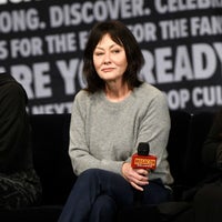
[[[157,157],[150,155],[149,152],[149,143],[139,143],[138,153],[132,155],[131,167],[134,169],[154,170],[157,168]]]

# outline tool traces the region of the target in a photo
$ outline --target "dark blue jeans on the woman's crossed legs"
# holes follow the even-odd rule
[[[170,190],[161,180],[144,186],[142,203],[169,200]],[[135,190],[120,174],[90,169],[75,181],[59,222],[113,222],[120,206],[133,205]]]

